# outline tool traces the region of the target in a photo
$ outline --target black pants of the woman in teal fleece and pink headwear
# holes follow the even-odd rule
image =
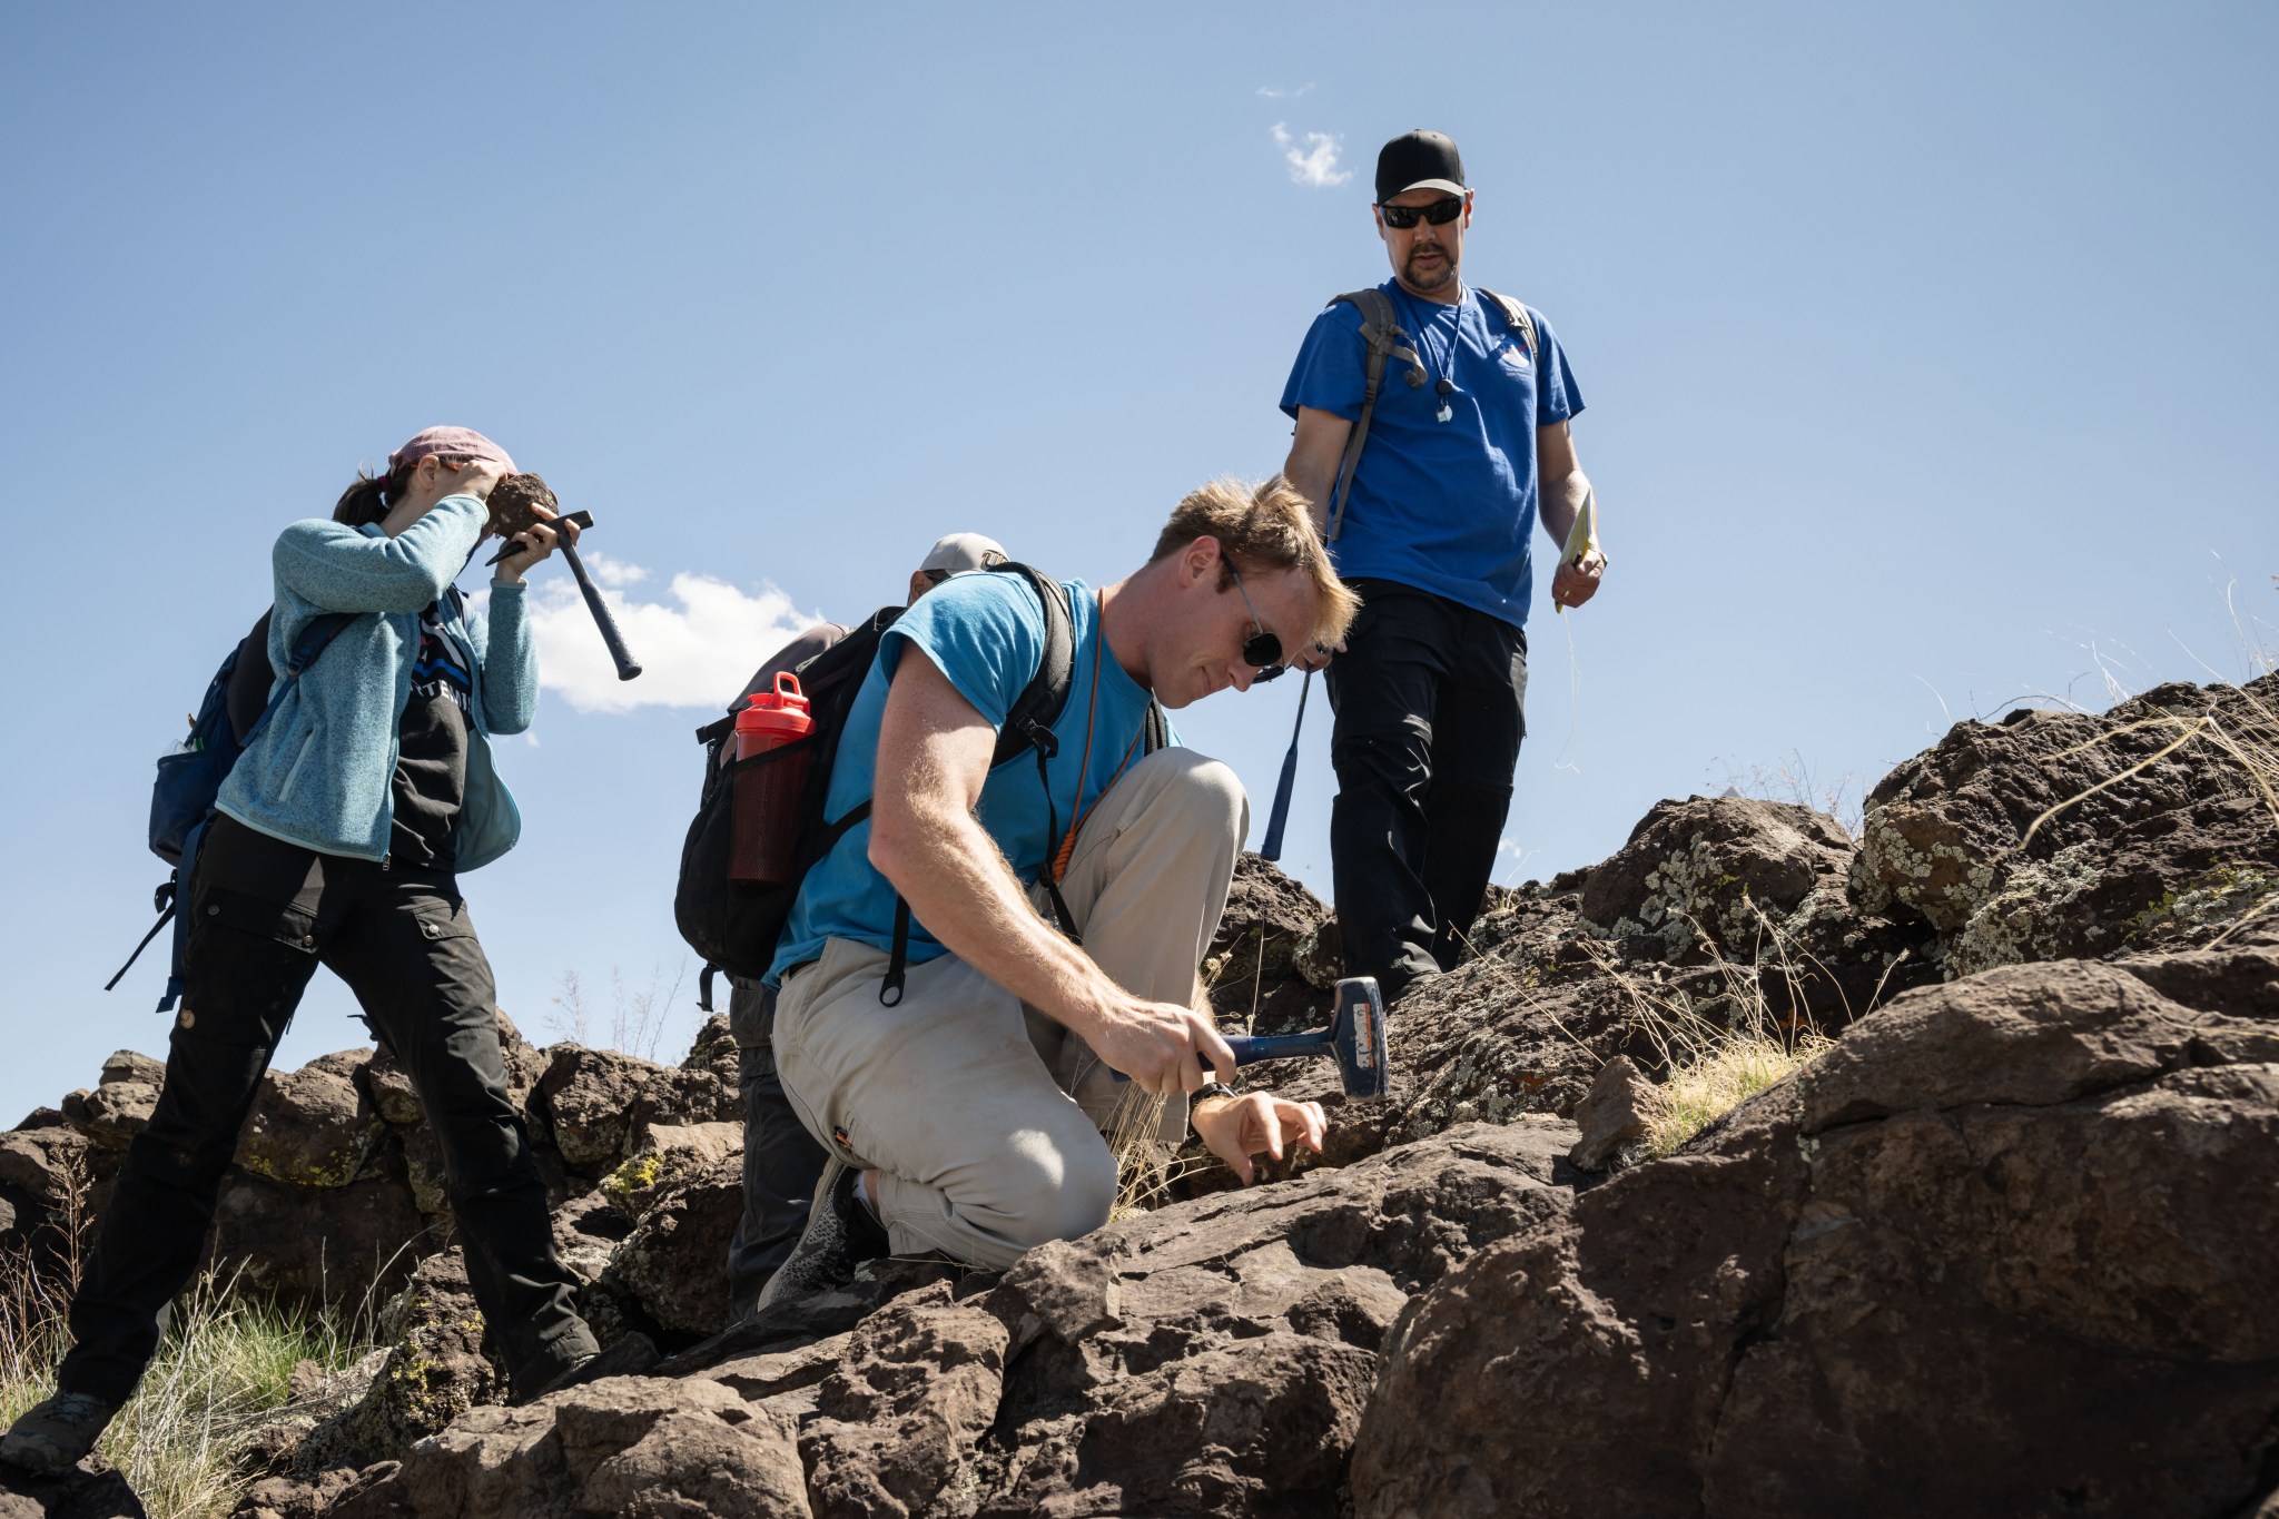
[[[217,818],[187,911],[166,1086],[103,1209],[59,1387],[109,1403],[134,1389],[160,1314],[198,1266],[269,1052],[319,963],[356,993],[442,1143],[467,1280],[515,1391],[590,1355],[554,1255],[545,1180],[506,1093],[490,961],[451,872],[317,854]]]

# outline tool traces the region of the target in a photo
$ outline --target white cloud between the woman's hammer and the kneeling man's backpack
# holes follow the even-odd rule
[[[593,613],[567,574],[533,583],[538,683],[561,692],[581,713],[629,713],[636,706],[725,711],[770,654],[793,633],[823,622],[773,585],[745,592],[704,574],[675,574],[665,588],[668,601],[634,601],[624,588],[645,581],[647,569],[590,553],[586,569],[602,585],[602,599],[640,660],[640,676],[618,679]]]

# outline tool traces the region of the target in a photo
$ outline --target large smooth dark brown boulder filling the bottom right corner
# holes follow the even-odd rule
[[[2211,959],[2220,959],[2211,956]],[[2217,1514],[2279,1458],[2279,1009],[1919,991],[1411,1309],[1358,1514]],[[1588,1410],[1541,1419],[1536,1410]]]

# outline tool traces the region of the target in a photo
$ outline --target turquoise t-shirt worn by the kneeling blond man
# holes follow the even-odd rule
[[[1140,688],[1114,651],[1101,644],[1101,604],[1083,581],[1062,581],[1076,633],[1076,660],[1069,670],[1069,701],[1060,708],[1053,736],[1060,754],[1046,765],[1053,786],[1053,813],[1067,834],[1078,808],[1089,808],[1101,793],[1144,752],[1149,692]],[[832,767],[830,818],[843,818],[871,797],[877,772],[877,724],[887,711],[887,685],[898,660],[909,649],[932,658],[973,708],[1003,729],[1005,715],[1044,665],[1044,608],[1037,592],[1016,574],[962,574],[925,592],[877,647],[877,663],[864,676],[846,733],[839,738],[839,761]],[[1094,658],[1098,658],[1098,706],[1094,708]],[[1092,720],[1089,756],[1085,754],[1085,720]],[[1039,879],[1046,861],[1060,847],[1046,820],[1044,786],[1037,783],[1037,756],[1021,749],[989,772],[975,808],[989,838],[996,840],[1023,884]],[[768,984],[823,954],[827,938],[855,938],[877,950],[893,947],[893,886],[871,865],[871,820],[855,824],[816,861],[800,884],[800,900],[784,925],[784,938],[768,968]],[[909,963],[918,966],[948,954],[925,931],[909,922]]]

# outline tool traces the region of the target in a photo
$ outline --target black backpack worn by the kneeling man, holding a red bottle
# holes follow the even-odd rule
[[[1044,660],[1035,679],[1014,699],[998,729],[996,754],[989,765],[1003,765],[1019,754],[1035,752],[1037,779],[1044,781],[1046,761],[1060,752],[1053,724],[1069,701],[1071,667],[1076,660],[1076,622],[1069,613],[1069,592],[1060,581],[1030,569],[1028,565],[991,565],[989,574],[1019,574],[1044,604]],[[839,738],[846,733],[848,711],[855,692],[877,660],[877,644],[887,629],[902,615],[900,606],[882,606],[871,617],[848,631],[846,638],[802,660],[793,674],[807,695],[807,715],[814,729],[789,745],[766,749],[752,758],[722,761],[722,752],[736,740],[736,713],[697,729],[704,745],[704,793],[697,815],[688,824],[681,845],[681,877],[672,893],[672,918],[697,954],[704,956],[704,975],[697,982],[697,1007],[711,1011],[711,979],[718,970],[757,982],[775,963],[775,945],[791,920],[791,906],[800,897],[800,881],[807,872],[846,838],[848,829],[871,815],[871,804],[861,802],[843,818],[825,818],[825,802],[832,788],[832,765],[839,758]],[[1151,713],[1151,731],[1155,731]],[[793,849],[789,879],[775,884],[752,884],[729,879],[729,845],[734,838],[736,777],[754,765],[770,765],[793,754],[811,754],[807,783],[800,795],[800,840]],[[1051,811],[1051,788],[1046,788],[1046,818],[1053,831],[1060,820]],[[1046,875],[1051,884],[1051,875]],[[1060,886],[1051,886],[1053,911],[1060,927],[1071,938],[1073,918],[1060,900]],[[909,947],[909,904],[893,902],[893,956],[887,963],[887,982],[880,986],[880,1002],[893,1007],[902,1000],[902,972]]]

